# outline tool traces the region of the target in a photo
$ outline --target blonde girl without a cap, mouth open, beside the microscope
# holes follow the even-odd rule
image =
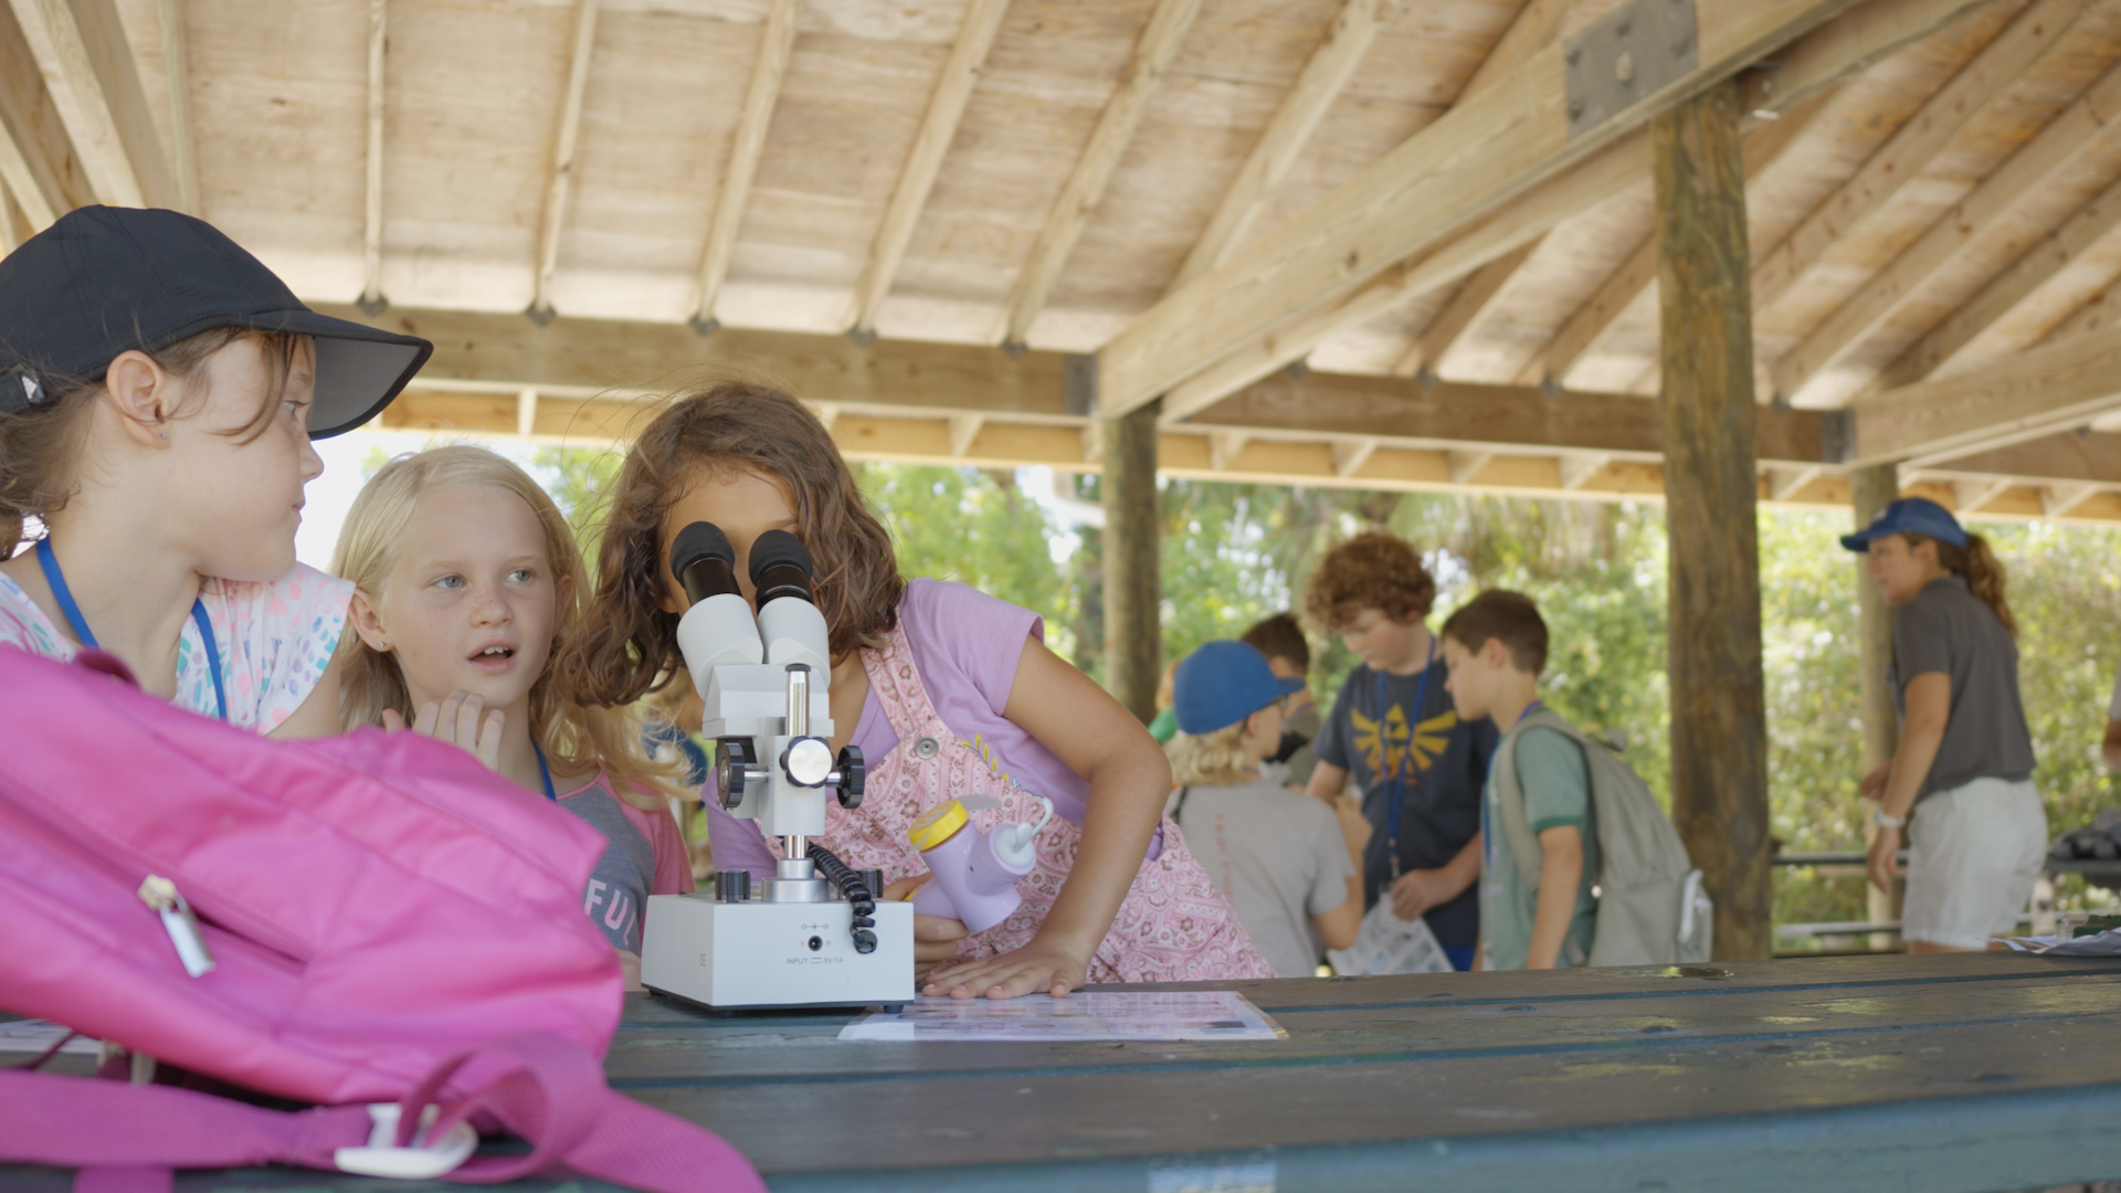
[[[354,584],[346,728],[409,724],[596,826],[611,845],[583,913],[636,976],[645,900],[689,892],[691,866],[641,724],[583,705],[547,667],[581,633],[581,552],[560,507],[486,448],[399,456],[361,488],[331,569]]]

